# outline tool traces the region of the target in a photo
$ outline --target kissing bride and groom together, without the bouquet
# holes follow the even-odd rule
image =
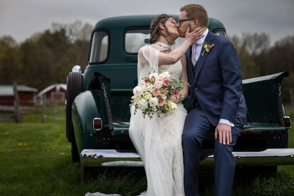
[[[181,90],[182,99],[171,100],[177,104],[173,112],[149,119],[140,111],[134,114],[134,105],[131,107],[129,135],[147,177],[147,191],[141,195],[198,195],[199,149],[211,133],[215,135],[214,192],[231,194],[233,146],[247,125],[242,74],[235,47],[209,31],[208,22],[207,11],[198,4],[181,7],[178,22],[161,14],[151,23],[150,45],[138,52],[138,86],[151,69],[168,72],[171,78],[190,84]],[[172,50],[179,36],[185,41]],[[186,110],[181,101],[189,91]]]

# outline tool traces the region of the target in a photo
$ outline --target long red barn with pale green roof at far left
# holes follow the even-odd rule
[[[36,88],[25,85],[17,85],[19,105],[35,105]],[[0,105],[14,105],[13,85],[0,85]]]

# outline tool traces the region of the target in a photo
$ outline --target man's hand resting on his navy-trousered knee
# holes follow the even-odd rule
[[[227,143],[229,145],[232,142],[232,127],[224,123],[219,123],[216,126],[214,137],[215,139],[219,139],[220,144],[223,143],[225,145]]]

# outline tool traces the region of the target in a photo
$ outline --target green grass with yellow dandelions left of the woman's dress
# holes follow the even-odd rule
[[[53,107],[46,107],[51,111]],[[47,112],[47,116],[49,116]],[[59,106],[58,116],[64,110]],[[146,190],[144,180],[131,175],[101,175],[96,181],[81,181],[80,163],[71,162],[71,145],[65,136],[65,121],[41,114],[23,115],[22,123],[0,123],[0,195],[85,195],[86,192],[134,195]]]

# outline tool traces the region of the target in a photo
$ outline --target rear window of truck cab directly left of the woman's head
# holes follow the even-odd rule
[[[141,47],[149,45],[150,29],[129,29],[124,35],[124,51],[127,54],[138,54]]]

